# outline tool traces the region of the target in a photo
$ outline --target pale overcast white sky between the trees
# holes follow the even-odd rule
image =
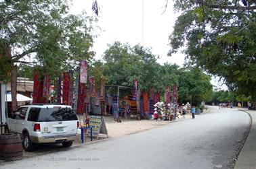
[[[71,13],[79,14],[86,11],[94,15],[91,6],[93,0],[73,0]],[[141,44],[152,48],[152,54],[159,56],[158,63],[184,64],[185,56],[181,52],[167,57],[170,50],[169,35],[173,31],[178,13],[173,10],[173,1],[169,1],[165,10],[166,0],[98,0],[100,13],[97,25],[102,30],[96,30],[93,51],[95,59],[101,59],[108,44],[115,41],[129,43],[131,46]],[[165,12],[164,12],[165,11]],[[218,86],[216,78],[211,80]],[[219,87],[226,89],[225,86]]]

